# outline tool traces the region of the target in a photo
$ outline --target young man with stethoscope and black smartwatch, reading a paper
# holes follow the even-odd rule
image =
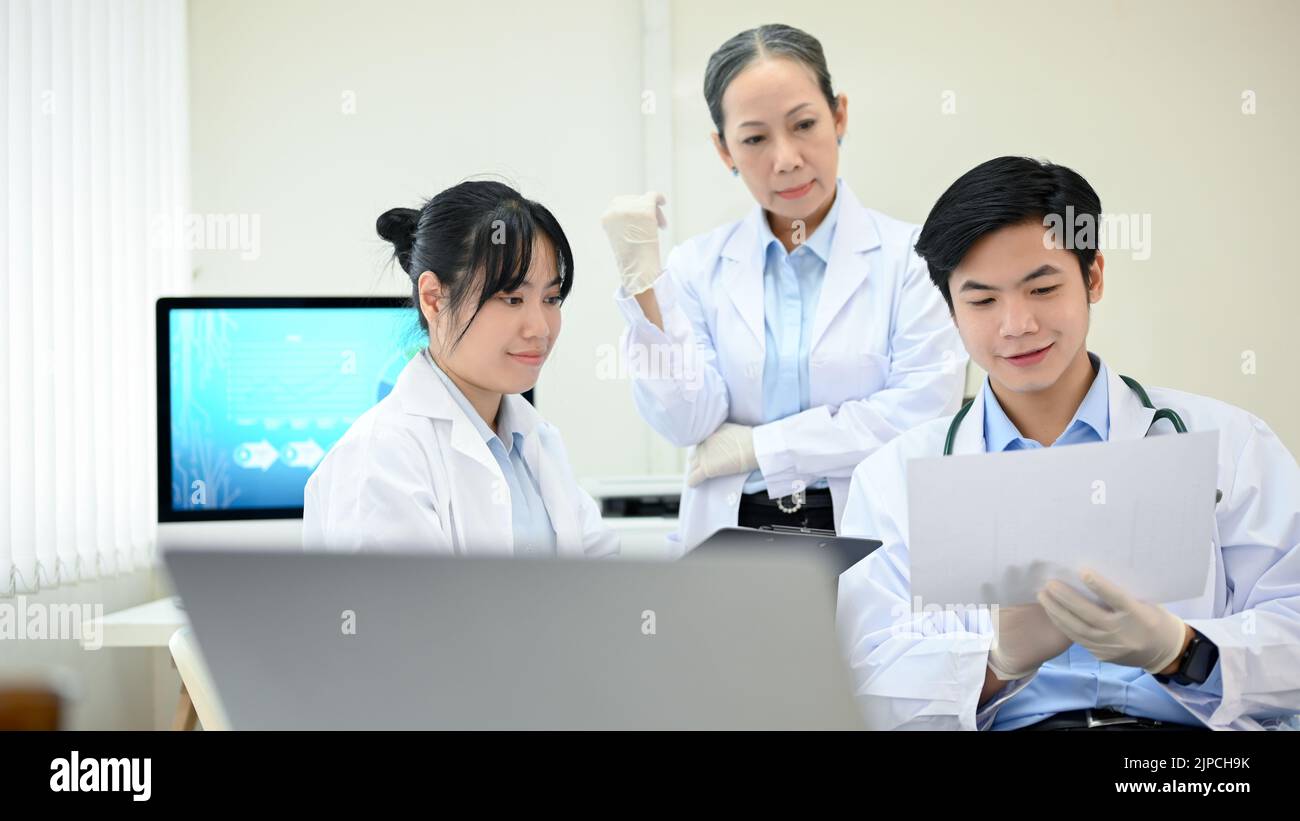
[[[954,453],[1171,433],[1087,349],[1104,257],[1063,242],[1054,229],[1066,214],[1100,225],[1087,181],[1000,157],[953,183],[922,229],[916,251],[988,372]],[[1084,569],[1092,596],[1053,579],[1037,603],[926,613],[909,581],[907,461],[941,455],[954,417],[854,470],[841,531],[883,542],[840,579],[838,626],[868,726],[1260,729],[1300,712],[1300,469],[1239,408],[1165,388],[1149,398],[1188,430],[1219,433],[1212,581],[1195,599],[1141,601]]]

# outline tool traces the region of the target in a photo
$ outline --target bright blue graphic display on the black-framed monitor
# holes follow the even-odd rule
[[[426,338],[410,308],[173,309],[172,505],[300,508]]]

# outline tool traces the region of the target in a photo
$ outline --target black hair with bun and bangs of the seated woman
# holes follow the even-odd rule
[[[560,299],[573,287],[573,252],[560,223],[545,205],[499,182],[463,182],[419,209],[391,208],[380,214],[374,229],[393,243],[393,256],[411,278],[411,304],[420,314],[421,330],[429,331],[420,308],[424,272],[433,272],[442,283],[450,316],[459,316],[474,299],[474,310],[454,346],[489,299],[517,290],[528,278],[538,233],[555,252]]]

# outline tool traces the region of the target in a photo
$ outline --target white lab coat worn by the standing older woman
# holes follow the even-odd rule
[[[812,323],[810,408],[763,422],[763,249],[758,205],[741,221],[668,255],[654,292],[664,330],[621,288],[641,416],[677,447],[723,422],[754,427],[768,491],[784,496],[826,477],[840,521],[849,477],[867,455],[961,401],[966,349],[939,290],[914,252],[919,227],[864,208],[842,183],[838,221]],[[647,364],[637,368],[637,362]],[[734,526],[748,474],[684,487],[670,553]]]

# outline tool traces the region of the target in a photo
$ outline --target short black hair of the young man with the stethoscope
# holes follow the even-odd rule
[[[1100,231],[1101,197],[1078,171],[1030,157],[997,157],[966,171],[944,191],[920,229],[916,253],[926,260],[931,282],[952,310],[948,279],[982,236],[1031,220],[1045,223],[1049,214],[1065,220],[1070,213],[1091,214]],[[1088,270],[1097,257],[1096,243],[1066,247],[1078,257],[1087,287]]]

